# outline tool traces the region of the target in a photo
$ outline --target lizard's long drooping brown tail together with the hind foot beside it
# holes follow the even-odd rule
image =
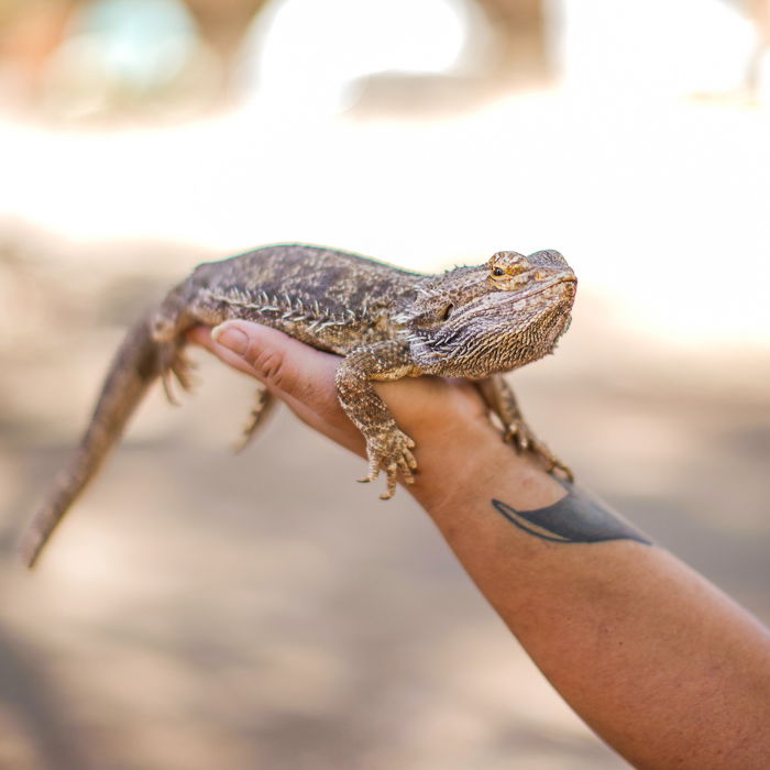
[[[21,540],[21,556],[29,568],[34,566],[51,534],[120,439],[150,385],[164,375],[168,393],[167,375],[173,372],[187,387],[183,344],[179,338],[155,341],[150,317],[142,318],[129,331],[116,353],[79,447],[54,481]]]

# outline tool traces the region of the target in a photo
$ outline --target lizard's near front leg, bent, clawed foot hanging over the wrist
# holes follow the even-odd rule
[[[381,495],[382,499],[393,497],[399,472],[407,484],[413,483],[417,462],[411,453],[415,442],[398,428],[373,382],[416,374],[408,346],[396,340],[356,348],[337,370],[334,382],[340,404],[366,440],[369,476],[360,481],[374,481],[384,471],[387,491]]]

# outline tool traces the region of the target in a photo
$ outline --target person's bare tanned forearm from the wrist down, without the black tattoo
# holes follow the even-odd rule
[[[491,427],[450,430],[470,432],[415,436],[430,449],[413,494],[575,711],[639,767],[767,767],[770,638],[759,624],[606,508],[588,520],[579,491],[552,525],[519,516],[564,490]],[[603,528],[619,539],[600,539]]]

